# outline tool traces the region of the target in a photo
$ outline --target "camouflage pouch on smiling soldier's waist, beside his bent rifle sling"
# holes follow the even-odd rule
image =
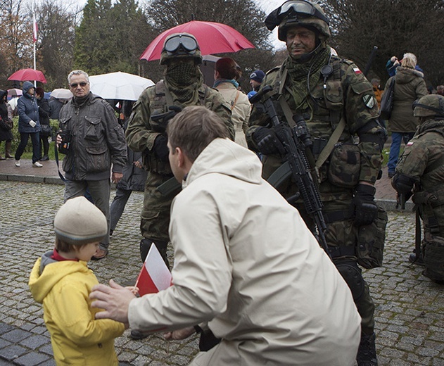
[[[357,145],[336,144],[330,154],[329,182],[336,187],[355,187],[360,179],[360,158]]]

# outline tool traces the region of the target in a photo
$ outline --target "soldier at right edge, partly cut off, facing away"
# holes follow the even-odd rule
[[[424,222],[422,255],[414,253],[410,260],[419,260],[426,277],[444,284],[444,96],[421,97],[413,114],[420,125],[405,146],[392,185],[400,194],[413,193]]]

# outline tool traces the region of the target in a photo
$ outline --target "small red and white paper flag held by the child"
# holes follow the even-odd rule
[[[172,276],[167,265],[163,261],[158,248],[151,243],[151,248],[146,255],[146,260],[137,277],[136,287],[139,287],[139,295],[155,294],[171,286]]]

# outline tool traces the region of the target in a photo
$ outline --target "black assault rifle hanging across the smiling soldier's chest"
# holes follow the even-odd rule
[[[315,238],[319,245],[324,249],[327,255],[331,258],[329,249],[326,244],[324,231],[326,224],[324,215],[322,215],[322,201],[317,189],[317,185],[312,177],[310,164],[307,160],[305,149],[310,149],[312,141],[307,130],[305,120],[301,115],[293,115],[296,125],[291,128],[279,120],[276,109],[270,96],[266,96],[268,92],[272,91],[270,85],[263,87],[257,94],[250,98],[251,103],[262,104],[272,120],[274,132],[279,139],[280,144],[277,144],[277,149],[281,154],[284,165],[288,164],[291,176],[298,184],[299,193],[288,198],[288,201],[296,201],[302,197],[305,210],[312,217],[315,222]],[[262,97],[265,97],[260,103]]]

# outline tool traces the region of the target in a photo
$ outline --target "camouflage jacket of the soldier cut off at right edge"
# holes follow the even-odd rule
[[[396,172],[411,177],[425,191],[444,184],[444,120],[427,120],[418,127]]]

